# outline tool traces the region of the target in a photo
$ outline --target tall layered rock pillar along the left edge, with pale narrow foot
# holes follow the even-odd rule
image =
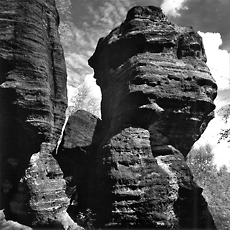
[[[52,156],[67,107],[58,20],[54,0],[0,1],[0,208],[28,225],[74,225]]]

